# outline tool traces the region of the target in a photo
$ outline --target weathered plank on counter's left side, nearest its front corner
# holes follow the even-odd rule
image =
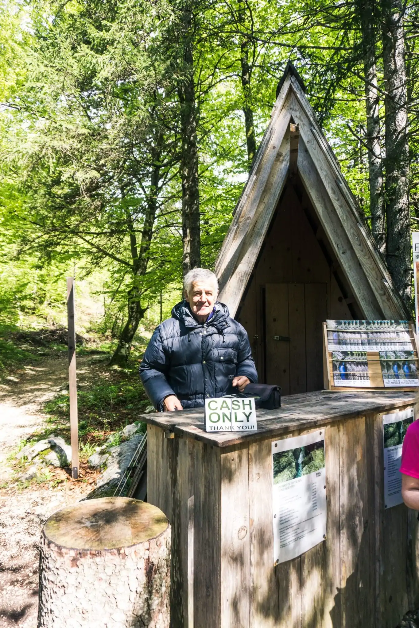
[[[222,562],[219,448],[195,443],[193,485],[193,621],[195,628],[217,628]]]

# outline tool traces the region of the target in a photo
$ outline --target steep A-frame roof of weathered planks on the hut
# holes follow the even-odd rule
[[[368,320],[406,318],[388,269],[291,64],[278,87],[269,126],[215,264],[219,299],[234,316],[288,180],[290,124],[298,124],[297,164],[292,163],[296,151],[291,138],[291,169],[298,172],[359,311]]]

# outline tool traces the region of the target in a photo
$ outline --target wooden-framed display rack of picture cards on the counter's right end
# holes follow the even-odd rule
[[[417,337],[406,320],[327,320],[323,357],[326,390],[419,386]]]

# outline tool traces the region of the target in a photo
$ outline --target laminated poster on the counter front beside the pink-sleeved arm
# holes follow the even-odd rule
[[[410,423],[413,423],[413,408],[383,415],[384,508],[403,503],[400,473],[401,448]]]

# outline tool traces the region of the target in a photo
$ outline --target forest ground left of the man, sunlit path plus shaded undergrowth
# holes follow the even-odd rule
[[[72,480],[69,468],[54,467],[26,480],[31,463],[16,458],[19,449],[52,434],[70,440],[67,351],[58,345],[40,351],[22,345],[21,338],[7,342],[3,354],[0,346],[0,359],[9,349],[28,353],[0,370],[0,628],[36,628],[42,526],[53,512],[92,490],[99,472],[88,467],[87,457],[113,431],[135,421],[148,401],[135,365],[110,369],[109,352],[82,348],[77,356],[79,480]]]

